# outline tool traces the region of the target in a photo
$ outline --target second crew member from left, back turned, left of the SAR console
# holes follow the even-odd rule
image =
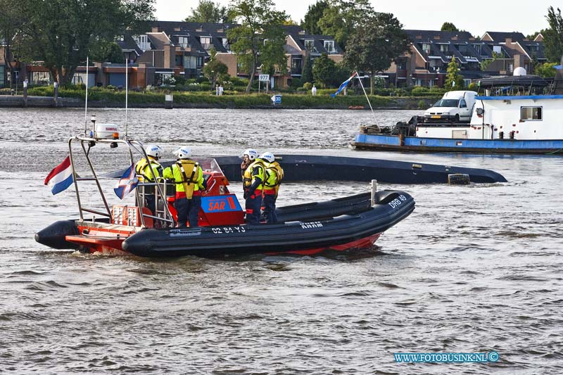
[[[186,222],[189,222],[189,227],[195,228],[201,208],[201,191],[207,189],[203,170],[199,163],[190,159],[189,147],[180,147],[174,154],[177,161],[163,170],[163,177],[174,180],[176,184],[174,206],[178,214],[178,227],[185,228]]]

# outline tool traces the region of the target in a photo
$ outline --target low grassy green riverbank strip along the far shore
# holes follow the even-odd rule
[[[369,109],[365,96],[349,95],[332,98],[327,95],[310,96],[305,94],[281,94],[281,104],[274,106],[272,94],[238,94],[215,96],[203,93],[175,93],[172,108],[236,108],[236,109]],[[369,96],[374,109],[424,109],[438,100],[437,96]],[[125,92],[94,91],[89,94],[88,106],[91,108],[123,108]],[[129,108],[167,108],[165,94],[129,92]],[[73,96],[0,96],[0,107],[13,108],[83,108],[84,98]]]

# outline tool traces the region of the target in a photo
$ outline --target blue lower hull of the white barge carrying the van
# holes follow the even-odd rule
[[[563,139],[446,139],[356,134],[353,146],[379,151],[563,154]]]

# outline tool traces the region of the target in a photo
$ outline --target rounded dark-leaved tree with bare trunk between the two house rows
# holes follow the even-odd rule
[[[373,94],[373,76],[388,69],[391,61],[409,49],[409,37],[399,20],[391,13],[374,13],[350,35],[344,61],[356,70],[369,72]]]

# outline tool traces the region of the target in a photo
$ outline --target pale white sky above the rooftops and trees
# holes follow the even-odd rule
[[[214,0],[228,5],[229,0]],[[524,35],[545,29],[548,7],[563,8],[555,0],[370,0],[376,11],[393,13],[405,29],[440,30],[444,22],[458,29],[481,36],[486,31],[519,31]],[[310,4],[315,0],[274,0],[276,8],[286,11],[299,23]],[[512,3],[512,5],[511,5]],[[424,4],[424,5],[423,5]],[[560,4],[560,5],[559,5]],[[180,21],[191,14],[198,0],[156,0],[156,18],[163,21]]]

